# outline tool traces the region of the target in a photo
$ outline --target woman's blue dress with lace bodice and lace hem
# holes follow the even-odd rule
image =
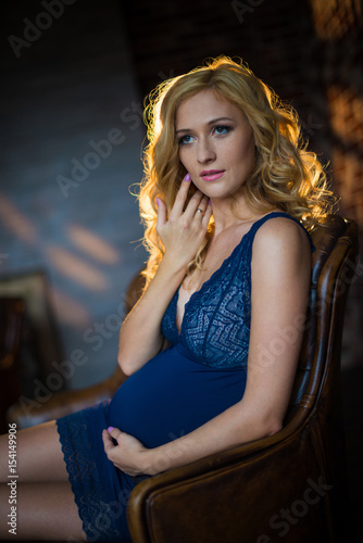
[[[241,400],[250,334],[252,243],[267,219],[280,216],[291,218],[274,212],[254,223],[191,295],[180,332],[175,293],[162,320],[170,346],[132,375],[111,402],[57,421],[88,541],[129,539],[126,504],[138,482],[105,456],[104,428],[114,426],[155,447],[191,432]],[[160,463],[162,470],[162,458]]]

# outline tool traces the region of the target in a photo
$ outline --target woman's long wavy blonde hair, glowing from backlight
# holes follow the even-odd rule
[[[170,211],[187,173],[178,156],[176,112],[184,100],[205,89],[213,89],[220,98],[239,108],[252,127],[255,167],[238,190],[252,211],[267,213],[277,207],[310,230],[334,205],[324,168],[316,155],[306,150],[293,108],[283,104],[242,61],[237,63],[224,55],[206,61],[205,66],[159,85],[149,94],[145,110],[149,144],[138,198],[146,226],[143,243],[150,253],[145,272],[147,285],[164,254],[157,232],[155,200],[163,198]],[[201,267],[213,226],[212,217],[188,272]]]

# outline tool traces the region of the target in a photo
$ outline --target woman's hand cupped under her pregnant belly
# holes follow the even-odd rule
[[[112,438],[117,442],[115,445]],[[148,452],[142,443],[118,428],[103,430],[104,452],[112,464],[129,476],[148,475]]]

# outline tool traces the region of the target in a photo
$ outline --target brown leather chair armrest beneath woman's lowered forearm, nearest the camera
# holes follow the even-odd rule
[[[284,541],[305,543],[309,536],[299,539],[292,530],[302,507],[309,508],[306,533],[312,530],[314,541],[325,541],[324,507],[331,490],[313,441],[305,425],[299,429],[293,425],[140,482],[128,502],[133,542],[265,543],[288,531]],[[306,505],[295,512],[293,504],[304,500]],[[280,518],[284,507],[292,509],[291,523]]]

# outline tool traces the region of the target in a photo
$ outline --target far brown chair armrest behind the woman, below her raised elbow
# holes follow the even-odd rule
[[[91,387],[57,392],[46,402],[21,399],[8,409],[8,421],[23,429],[64,417],[109,400],[125,380],[126,376],[117,366],[112,376]]]

